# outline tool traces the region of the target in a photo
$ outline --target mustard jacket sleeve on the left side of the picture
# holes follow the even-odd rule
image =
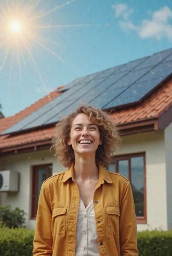
[[[49,192],[42,184],[38,200],[38,211],[36,216],[36,227],[33,240],[33,256],[52,255],[52,212],[50,207]]]

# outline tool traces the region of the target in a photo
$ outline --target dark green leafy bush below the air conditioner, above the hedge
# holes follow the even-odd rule
[[[18,207],[15,210],[11,206],[0,206],[0,223],[1,226],[8,228],[20,228],[25,223],[25,212]]]

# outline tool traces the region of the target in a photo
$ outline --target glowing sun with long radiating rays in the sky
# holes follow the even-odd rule
[[[75,2],[76,0],[67,1],[64,4],[56,5],[52,9],[42,9],[41,0],[1,0],[0,1],[0,50],[2,52],[2,58],[0,59],[0,72],[2,71],[5,62],[8,58],[11,60],[11,65],[18,64],[19,74],[21,79],[21,67],[26,67],[27,59],[31,60],[38,76],[44,86],[45,92],[46,86],[40,74],[39,68],[34,56],[34,46],[41,47],[46,52],[57,57],[60,61],[67,62],[59,56],[58,52],[54,52],[51,45],[58,45],[58,42],[44,36],[44,32],[47,29],[57,30],[58,28],[69,29],[70,27],[85,27],[91,26],[90,24],[53,24],[53,20],[50,23],[46,23],[45,17],[53,12],[56,12],[60,8]],[[57,13],[58,15],[58,13]],[[49,19],[50,20],[50,19]],[[53,31],[52,34],[56,33]],[[69,64],[67,64],[69,65]],[[72,65],[71,65],[72,66]],[[12,76],[12,66],[9,68],[9,81]]]

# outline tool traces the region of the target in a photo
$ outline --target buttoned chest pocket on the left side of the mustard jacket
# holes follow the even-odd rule
[[[67,207],[54,207],[52,210],[53,237],[66,233],[66,210]]]

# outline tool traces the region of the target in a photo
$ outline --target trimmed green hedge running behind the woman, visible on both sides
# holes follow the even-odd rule
[[[1,256],[32,256],[33,230],[0,228]],[[172,231],[138,232],[139,256],[172,256]]]

